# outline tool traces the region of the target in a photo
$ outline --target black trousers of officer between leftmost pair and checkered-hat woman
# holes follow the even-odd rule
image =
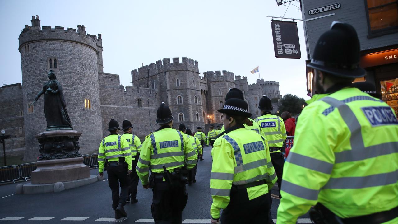
[[[152,188],[151,212],[156,224],[181,224],[182,211],[188,200],[185,183],[173,181],[173,187],[167,181],[155,179]]]

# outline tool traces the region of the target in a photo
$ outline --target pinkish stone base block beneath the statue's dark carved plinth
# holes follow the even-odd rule
[[[36,165],[37,169],[31,172],[32,184],[66,182],[90,177],[90,168],[83,164],[82,157],[37,161]]]

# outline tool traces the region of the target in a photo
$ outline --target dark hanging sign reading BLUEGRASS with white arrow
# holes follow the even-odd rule
[[[300,59],[297,22],[271,20],[275,57]]]

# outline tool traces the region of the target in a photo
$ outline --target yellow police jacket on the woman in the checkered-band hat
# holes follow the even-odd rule
[[[277,181],[264,137],[242,125],[231,129],[217,138],[211,150],[210,192],[213,204],[210,212],[215,219],[220,217],[220,210],[229,204],[232,184],[244,185],[265,180],[268,186],[247,188],[249,200],[252,200],[268,193]]]

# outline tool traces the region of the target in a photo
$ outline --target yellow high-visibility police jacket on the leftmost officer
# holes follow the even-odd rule
[[[119,157],[125,157],[125,162],[131,170],[131,149],[125,137],[118,134],[110,134],[102,139],[98,150],[98,171],[103,172],[105,160],[119,161]]]

